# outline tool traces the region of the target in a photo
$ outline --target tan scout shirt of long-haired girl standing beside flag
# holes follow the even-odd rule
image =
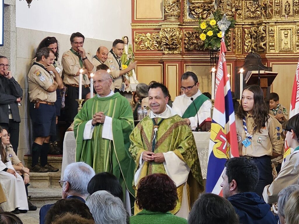
[[[239,119],[237,115],[236,118],[236,128],[237,128],[237,140],[239,145],[239,155],[240,156],[251,156],[251,157],[261,157],[261,156],[272,156],[272,152],[282,155],[283,154],[283,139],[280,136],[282,131],[281,124],[272,116],[269,116],[266,122],[266,127],[261,129],[261,133],[256,132],[252,139],[249,141],[251,145],[247,148],[242,144],[242,141],[246,139],[245,130],[243,128],[242,119]],[[246,117],[246,126],[250,134],[253,133],[254,120],[249,114]]]

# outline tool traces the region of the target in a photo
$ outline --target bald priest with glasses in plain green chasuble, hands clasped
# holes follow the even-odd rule
[[[96,71],[93,80],[97,95],[83,104],[74,119],[76,162],[86,162],[96,173],[114,174],[123,187],[126,205],[130,198],[133,204],[135,162],[128,150],[134,128],[132,109],[125,97],[110,89],[112,79],[106,70]]]

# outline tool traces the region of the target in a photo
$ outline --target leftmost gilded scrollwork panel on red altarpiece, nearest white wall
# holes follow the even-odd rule
[[[136,33],[136,50],[162,50],[159,33]]]

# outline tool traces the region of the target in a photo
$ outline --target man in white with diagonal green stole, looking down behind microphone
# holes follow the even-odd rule
[[[177,96],[172,105],[173,110],[187,122],[192,130],[197,127],[197,117],[201,124],[211,116],[212,104],[209,98],[200,92],[198,86],[196,74],[185,72],[181,77],[181,90],[184,94]]]

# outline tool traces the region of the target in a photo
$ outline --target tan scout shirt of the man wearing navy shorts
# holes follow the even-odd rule
[[[28,92],[30,102],[33,102],[36,99],[50,103],[56,102],[56,92],[47,91],[53,83],[54,79],[47,70],[38,65],[32,65],[28,72]]]

